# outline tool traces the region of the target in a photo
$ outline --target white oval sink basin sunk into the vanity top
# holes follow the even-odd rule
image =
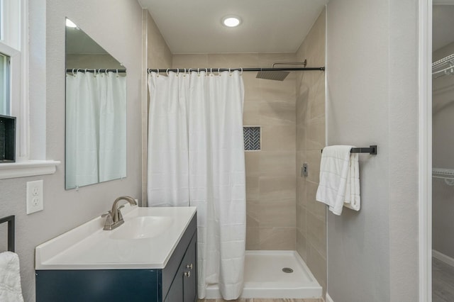
[[[125,220],[116,230],[111,231],[111,239],[142,239],[161,235],[173,223],[170,216],[140,216]]]

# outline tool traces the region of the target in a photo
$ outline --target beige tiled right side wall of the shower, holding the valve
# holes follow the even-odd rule
[[[308,67],[325,65],[325,11],[297,51]],[[315,200],[325,146],[325,73],[297,76],[297,251],[326,291],[326,206]],[[306,162],[308,177],[300,177]]]

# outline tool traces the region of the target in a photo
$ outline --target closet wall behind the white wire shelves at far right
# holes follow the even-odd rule
[[[433,52],[433,61],[454,53],[454,43]],[[432,164],[436,168],[454,169],[454,82],[452,76],[438,77],[432,82]],[[454,186],[443,179],[432,181],[432,246],[433,250],[454,258],[453,203]]]

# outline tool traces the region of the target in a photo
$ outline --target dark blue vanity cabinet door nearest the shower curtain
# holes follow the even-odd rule
[[[194,235],[182,261],[184,302],[194,302],[197,298],[196,242],[197,236]]]

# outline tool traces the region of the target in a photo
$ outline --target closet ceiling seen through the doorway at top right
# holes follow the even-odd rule
[[[454,5],[434,5],[432,48],[438,50],[454,42]]]

